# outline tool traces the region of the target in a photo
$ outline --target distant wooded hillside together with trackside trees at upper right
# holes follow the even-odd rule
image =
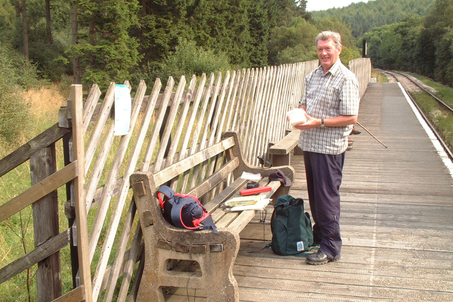
[[[453,0],[370,0],[313,12],[339,18],[374,67],[412,71],[453,86]]]

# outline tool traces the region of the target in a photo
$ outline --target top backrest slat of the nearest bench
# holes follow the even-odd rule
[[[216,156],[226,149],[231,148],[235,144],[234,137],[228,137],[221,140],[220,142],[213,144],[212,146],[203,149],[187,158],[175,163],[159,172],[154,174],[154,181],[156,186],[160,186],[172,178],[180,175],[181,173],[189,170],[190,168]]]

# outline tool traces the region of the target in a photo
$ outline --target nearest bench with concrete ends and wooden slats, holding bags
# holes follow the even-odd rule
[[[197,178],[195,170],[204,174],[203,163],[209,165],[206,166],[208,177],[197,185],[190,185],[190,178],[184,178],[184,174],[193,171],[192,179]],[[249,165],[243,159],[237,133],[226,132],[220,142],[158,173],[134,173],[130,181],[145,246],[144,270],[137,301],[163,302],[163,286],[203,288],[207,301],[212,302],[239,301],[238,284],[233,276],[233,265],[240,245],[239,233],[255,216],[256,211],[227,212],[220,206],[245,188],[248,180],[241,178],[243,172],[261,175],[260,186],[272,187],[272,191],[262,193],[268,198],[287,194],[290,187],[281,186],[280,181],[268,181],[269,174],[276,169],[280,169],[293,181],[294,170],[289,166],[269,169]],[[203,196],[207,201],[205,207],[212,214],[218,234],[207,230],[179,229],[164,219],[156,198],[157,188],[162,184],[175,188],[178,179],[177,188],[187,185],[184,193]],[[175,259],[198,262],[201,273],[167,269],[169,261]]]

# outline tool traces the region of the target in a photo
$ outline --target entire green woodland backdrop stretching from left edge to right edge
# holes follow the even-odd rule
[[[366,39],[375,67],[452,85],[452,20],[453,0],[370,0],[313,13],[305,0],[0,0],[0,140],[21,136],[21,92],[38,83],[105,91],[110,81],[166,83],[312,60],[322,30],[342,35],[345,63]]]

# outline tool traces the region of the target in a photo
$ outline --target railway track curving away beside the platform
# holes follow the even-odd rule
[[[415,86],[417,87],[417,89],[415,91],[424,91],[426,92],[432,99],[434,99],[438,104],[441,104],[447,112],[449,112],[449,114],[453,115],[453,107],[451,107],[450,105],[446,104],[443,100],[439,99],[438,97],[436,97],[435,95],[433,95],[430,91],[428,91],[426,88],[422,87],[421,85],[419,85],[418,83],[416,83],[415,81],[413,81],[410,77],[408,77],[406,74],[404,73],[401,73],[401,72],[397,72],[397,71],[389,71],[389,70],[383,70],[383,69],[376,69],[376,71],[380,71],[382,73],[387,73],[389,74],[391,77],[395,78],[397,82],[400,82],[401,85],[403,86],[403,88],[406,90],[407,92],[407,95],[409,96],[409,98],[411,99],[412,103],[414,104],[414,106],[417,108],[417,110],[420,112],[420,115],[423,117],[423,119],[426,121],[426,123],[428,124],[428,126],[431,128],[431,130],[433,131],[434,135],[437,137],[437,139],[439,140],[440,144],[442,145],[443,149],[445,150],[446,154],[448,155],[448,157],[453,160],[453,152],[452,150],[450,149],[450,147],[448,146],[448,144],[445,142],[445,139],[444,137],[439,133],[439,129],[438,127],[431,121],[431,119],[428,118],[428,116],[426,115],[425,112],[423,112],[423,110],[420,108],[420,106],[417,104],[417,102],[415,101],[415,99],[412,97],[409,89],[408,89],[408,86]],[[414,91],[413,87],[411,87],[412,91]]]

